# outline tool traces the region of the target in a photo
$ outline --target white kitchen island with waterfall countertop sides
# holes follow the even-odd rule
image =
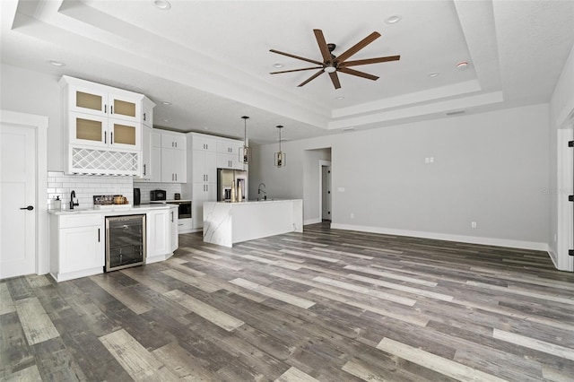
[[[225,247],[251,239],[303,231],[301,199],[204,202],[204,241]]]

